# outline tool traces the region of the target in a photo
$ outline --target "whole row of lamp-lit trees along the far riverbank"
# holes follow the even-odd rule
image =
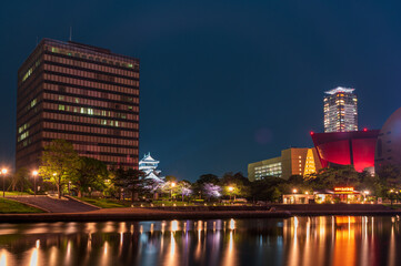
[[[79,156],[71,143],[54,140],[46,146],[41,157],[37,185],[39,192],[56,192],[114,198],[173,198],[176,201],[209,202],[245,198],[248,201],[279,202],[282,194],[313,193],[352,186],[357,191],[369,191],[371,195],[398,198],[401,196],[401,172],[394,166],[384,166],[375,175],[358,173],[352,166],[323,168],[308,176],[293,175],[289,180],[265,177],[249,182],[242,173],[201,175],[196,182],[178,181],[167,176],[163,181],[148,178],[141,171],[120,167],[107,168],[103,162]],[[33,188],[31,172],[20,168],[8,181],[8,190],[30,192]]]

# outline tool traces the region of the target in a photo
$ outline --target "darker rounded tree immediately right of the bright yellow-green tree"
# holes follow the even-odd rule
[[[72,184],[78,190],[78,196],[82,196],[82,192],[104,188],[104,180],[108,177],[107,165],[92,157],[79,157],[77,174],[72,176]]]

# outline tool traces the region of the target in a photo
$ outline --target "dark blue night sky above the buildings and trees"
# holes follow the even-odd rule
[[[140,155],[196,180],[242,171],[323,127],[323,92],[357,89],[360,127],[400,108],[398,1],[7,1],[0,163],[12,164],[17,70],[37,37],[141,60]]]

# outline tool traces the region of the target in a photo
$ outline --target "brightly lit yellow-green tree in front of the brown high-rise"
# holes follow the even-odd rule
[[[44,146],[39,175],[57,186],[59,198],[61,198],[62,186],[77,174],[78,163],[79,156],[72,143],[66,140],[53,140]]]

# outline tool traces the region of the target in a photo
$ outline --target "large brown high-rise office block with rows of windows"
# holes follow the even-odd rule
[[[138,168],[139,60],[43,39],[18,71],[16,167],[38,167],[44,145]]]

